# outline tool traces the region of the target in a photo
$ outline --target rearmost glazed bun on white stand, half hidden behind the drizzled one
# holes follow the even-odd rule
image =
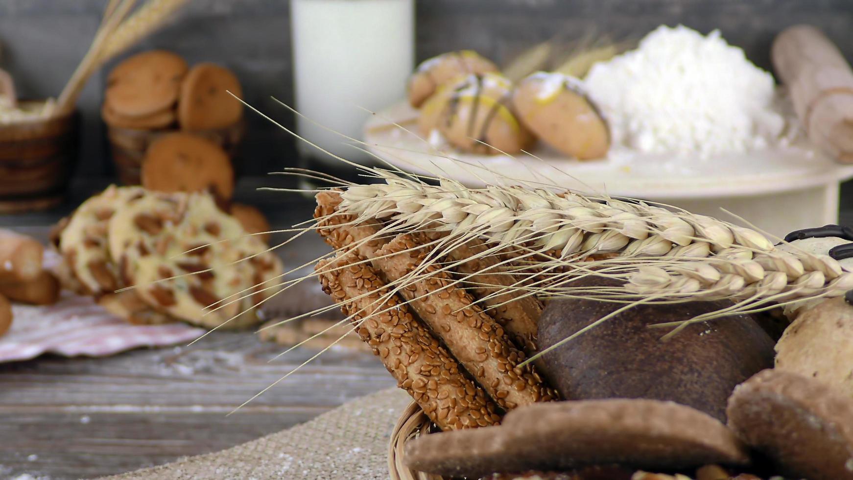
[[[409,104],[421,107],[438,88],[469,73],[497,72],[494,63],[473,50],[460,50],[434,56],[421,62],[409,78]]]

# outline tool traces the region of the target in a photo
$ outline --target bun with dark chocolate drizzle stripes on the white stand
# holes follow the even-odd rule
[[[432,137],[438,131],[453,147],[469,153],[519,153],[533,136],[512,107],[512,83],[486,72],[444,85],[421,109],[418,128]]]

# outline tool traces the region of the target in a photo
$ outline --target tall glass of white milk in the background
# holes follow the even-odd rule
[[[414,67],[414,0],[291,0],[296,108],[311,120],[362,140],[370,113],[405,97]],[[363,107],[363,108],[360,108]],[[345,138],[297,117],[300,136],[345,159],[368,161]],[[300,156],[338,160],[305,142]]]

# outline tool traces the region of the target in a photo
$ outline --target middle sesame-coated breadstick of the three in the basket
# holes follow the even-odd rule
[[[428,241],[421,234],[400,234],[371,263],[388,283],[420,271],[423,278],[400,288],[400,295],[499,406],[512,409],[556,400],[559,396],[544,385],[532,366],[519,367],[524,352],[515,348],[495,319],[474,304],[471,295],[456,288],[450,275],[436,265],[422,267],[430,253],[424,246]]]

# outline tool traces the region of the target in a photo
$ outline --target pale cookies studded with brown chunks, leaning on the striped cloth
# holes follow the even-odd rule
[[[78,291],[136,323],[252,325],[282,269],[206,193],[107,188],[73,213],[58,248]]]

